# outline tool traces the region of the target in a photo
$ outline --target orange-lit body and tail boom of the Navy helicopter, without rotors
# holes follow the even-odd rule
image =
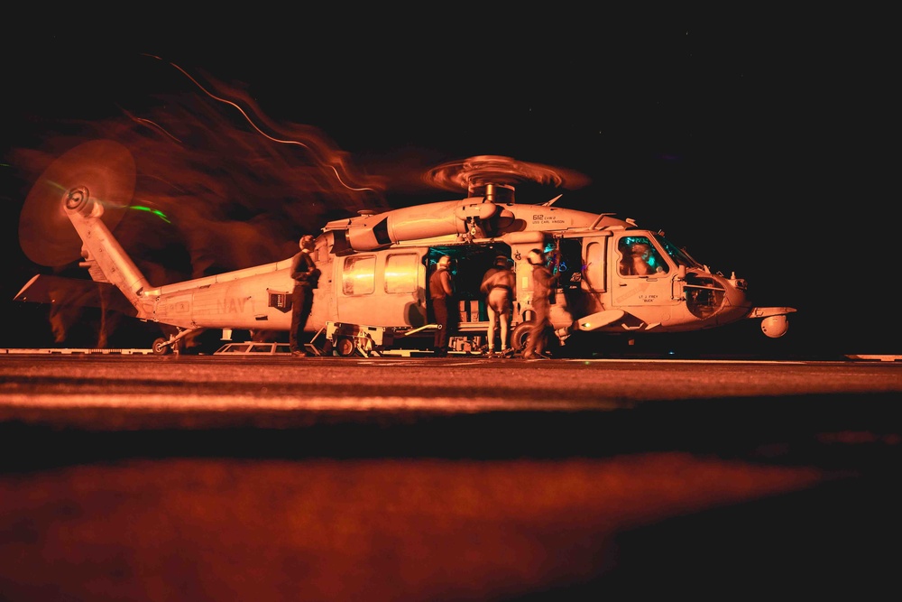
[[[86,265],[123,290],[140,320],[185,330],[290,329],[290,257],[153,288],[115,245],[98,208],[67,208],[85,241]],[[359,345],[361,333],[376,350],[402,339],[406,346],[428,347],[428,276],[437,259],[449,255],[460,308],[453,344],[477,351],[485,346],[488,327],[479,283],[503,255],[516,274],[511,329],[518,347],[526,332],[518,327],[534,313],[532,266],[526,261],[532,249],[548,256],[557,274],[550,320],[562,341],[577,331],[685,332],[748,317],[785,320],[792,311],[752,308],[744,281],[710,273],[665,237],[629,220],[471,198],[330,222],[313,253],[323,275],[308,330],[325,330],[327,342],[345,350]],[[774,332],[779,333],[776,325]]]

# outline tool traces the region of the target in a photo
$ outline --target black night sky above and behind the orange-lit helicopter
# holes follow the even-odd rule
[[[356,168],[385,177],[373,202],[456,198],[413,186],[411,174],[478,154],[578,171],[591,184],[564,190],[562,206],[664,229],[713,269],[746,278],[759,304],[796,307],[791,344],[899,353],[888,277],[897,272],[897,66],[883,19],[869,15],[866,30],[840,14],[817,23],[679,15],[652,25],[586,11],[491,22],[470,14],[440,29],[385,26],[387,15],[354,26],[233,19],[228,30],[144,23],[102,33],[23,23],[0,46],[0,193],[13,268],[0,296],[11,300],[46,273],[17,244],[19,211],[40,175],[17,150],[52,156],[95,137],[85,124],[147,116],[173,99],[193,98],[240,126],[222,103],[204,105],[177,65],[243,91],[272,124],[313,126]],[[2,302],[46,336],[41,311]],[[4,338],[0,347],[32,346]]]

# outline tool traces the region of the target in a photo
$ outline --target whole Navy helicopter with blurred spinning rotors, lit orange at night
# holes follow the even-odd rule
[[[180,341],[203,329],[221,329],[224,340],[235,330],[287,333],[290,257],[184,282],[148,282],[112,233],[131,200],[133,172],[131,153],[112,140],[79,144],[61,155],[25,201],[20,242],[26,255],[51,265],[55,245],[80,245],[79,265],[113,295],[113,306],[172,327],[170,336],[152,342],[154,354],[178,352]],[[308,320],[308,349],[342,357],[430,352],[437,326],[427,282],[443,255],[455,262],[459,297],[452,353],[486,349],[489,322],[479,283],[499,255],[510,258],[516,274],[511,348],[517,353],[524,347],[534,315],[526,261],[532,249],[543,251],[557,273],[549,336],[558,349],[591,350],[604,337],[714,329],[740,320],[760,320],[767,337],[779,338],[796,311],[752,306],[745,280],[712,273],[667,236],[632,219],[557,207],[560,196],[540,205],[516,202],[515,190],[524,182],[559,186],[563,177],[554,168],[480,155],[439,165],[429,177],[440,187],[465,190],[465,198],[363,210],[322,227],[313,254],[322,276]],[[38,230],[51,221],[56,231],[41,238]],[[55,302],[56,279],[34,276],[15,300]]]

